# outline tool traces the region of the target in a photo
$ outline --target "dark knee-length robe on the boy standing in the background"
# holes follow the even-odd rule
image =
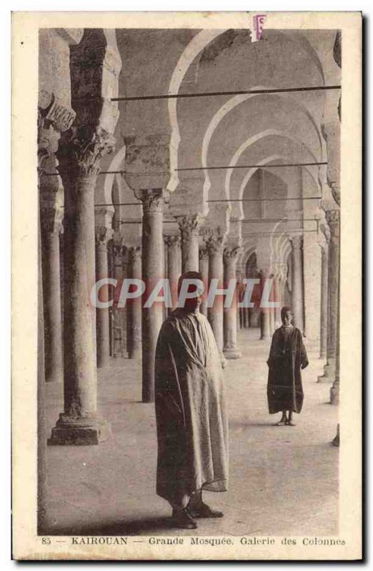
[[[267,364],[269,413],[282,410],[300,413],[304,398],[301,368],[307,367],[308,358],[299,329],[294,327],[287,333],[280,327],[274,332]]]

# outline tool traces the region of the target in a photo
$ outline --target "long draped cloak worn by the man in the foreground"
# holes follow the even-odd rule
[[[156,493],[177,502],[228,480],[224,379],[214,333],[201,313],[176,309],[159,333],[155,363]]]

